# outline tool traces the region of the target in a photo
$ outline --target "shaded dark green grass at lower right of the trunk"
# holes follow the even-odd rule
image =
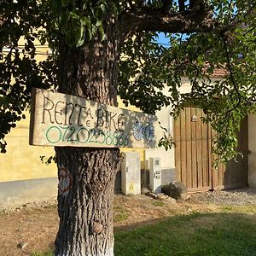
[[[193,213],[115,234],[115,256],[253,256],[256,218]]]

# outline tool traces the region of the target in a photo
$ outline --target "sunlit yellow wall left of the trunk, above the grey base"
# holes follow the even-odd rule
[[[46,165],[40,155],[54,155],[54,148],[28,145],[29,119],[22,119],[6,137],[7,153],[0,154],[0,181],[55,177],[55,164]]]

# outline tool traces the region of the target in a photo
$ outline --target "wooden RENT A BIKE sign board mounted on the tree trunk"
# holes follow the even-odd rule
[[[160,125],[154,115],[78,96],[32,90],[31,145],[154,148],[160,137]]]

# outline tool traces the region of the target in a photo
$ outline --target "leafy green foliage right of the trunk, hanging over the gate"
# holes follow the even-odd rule
[[[120,64],[119,93],[125,104],[150,113],[170,104],[174,117],[188,103],[203,108],[204,121],[217,131],[212,152],[218,163],[236,157],[241,121],[255,111],[256,12],[255,3],[249,1],[210,4],[218,20],[212,32],[167,34],[167,48],[152,32],[127,40],[123,52],[130,57]],[[219,68],[225,76],[212,79]],[[190,81],[189,94],[179,93],[182,78]]]

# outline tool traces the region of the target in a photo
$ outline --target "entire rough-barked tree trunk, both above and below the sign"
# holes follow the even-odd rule
[[[106,22],[107,24],[107,22]],[[83,49],[60,44],[60,92],[117,104],[118,35],[113,20],[108,39]],[[59,231],[55,255],[113,256],[113,189],[119,149],[56,147]]]

